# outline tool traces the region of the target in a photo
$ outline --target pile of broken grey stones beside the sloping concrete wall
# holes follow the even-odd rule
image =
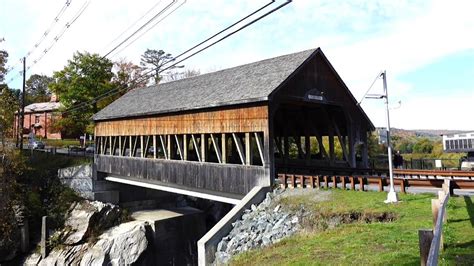
[[[286,210],[279,199],[291,191],[274,190],[258,205],[244,211],[242,218],[232,224],[233,229],[217,246],[215,265],[227,264],[236,254],[265,247],[295,234],[301,229],[304,208]]]

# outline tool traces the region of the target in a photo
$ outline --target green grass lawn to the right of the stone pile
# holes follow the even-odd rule
[[[399,194],[400,203],[385,204],[383,201],[386,193],[342,190],[331,192],[327,201],[312,201],[311,196],[304,195],[282,199],[281,203],[287,208],[304,206],[312,213],[317,213],[319,220],[331,220],[335,215],[350,213],[359,213],[362,217],[390,213],[397,218],[392,222],[370,223],[361,219],[362,221],[340,224],[332,229],[304,231],[276,245],[240,254],[231,264],[420,264],[418,229],[432,227],[431,199],[434,195]],[[315,193],[318,193],[317,190]],[[456,264],[456,254],[474,251],[474,230],[471,225],[474,221],[474,207],[470,205],[469,216],[466,210],[466,204],[472,204],[469,200],[465,201],[462,197],[451,199],[448,210],[450,225],[446,235],[448,249],[443,254],[445,264]]]

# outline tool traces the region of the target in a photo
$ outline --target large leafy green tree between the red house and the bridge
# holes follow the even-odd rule
[[[76,52],[63,70],[54,72],[50,89],[63,104],[62,111],[67,111],[54,122],[54,129],[71,136],[93,133],[92,115],[113,100],[96,99],[115,87],[112,66],[109,59],[98,54]]]

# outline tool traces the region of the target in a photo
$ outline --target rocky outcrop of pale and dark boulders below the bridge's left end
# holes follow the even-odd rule
[[[131,264],[148,246],[147,222],[124,222],[127,217],[116,205],[98,201],[75,203],[65,226],[48,240],[45,258],[33,253],[25,265]],[[120,224],[120,225],[119,225]]]

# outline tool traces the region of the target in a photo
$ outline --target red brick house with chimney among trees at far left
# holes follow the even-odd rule
[[[32,103],[25,106],[25,118],[23,120],[23,135],[33,133],[37,138],[61,139],[61,132],[52,131],[51,124],[56,118],[61,107],[57,97],[53,94],[49,102]],[[14,132],[18,129],[18,113],[15,117]]]

